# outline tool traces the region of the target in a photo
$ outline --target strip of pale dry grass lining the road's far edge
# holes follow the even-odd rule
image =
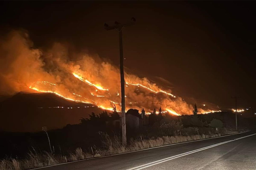
[[[231,133],[231,132],[228,132]],[[76,148],[74,153],[70,153],[69,156],[55,156],[54,154],[44,152],[41,154],[36,153],[33,149],[30,151],[27,159],[5,159],[0,161],[0,170],[24,170],[34,167],[43,167],[52,164],[59,164],[68,161],[77,161],[81,159],[88,159],[99,156],[112,155],[116,153],[124,153],[134,150],[141,150],[150,147],[162,146],[165,144],[173,144],[177,142],[186,142],[191,140],[205,139],[209,137],[221,136],[221,133],[212,135],[191,135],[191,136],[160,136],[151,139],[131,139],[128,146],[124,147],[119,141],[117,136],[112,139],[108,134],[101,133],[104,148],[91,147],[92,152],[84,153],[81,147]]]

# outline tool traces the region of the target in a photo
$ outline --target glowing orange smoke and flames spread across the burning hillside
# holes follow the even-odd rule
[[[73,53],[67,45],[33,48],[25,31],[11,31],[0,40],[0,94],[51,92],[66,99],[120,110],[119,68],[99,56]],[[163,91],[147,78],[125,73],[126,108],[150,112],[154,108],[191,114],[193,107]],[[202,113],[211,110],[198,109]]]

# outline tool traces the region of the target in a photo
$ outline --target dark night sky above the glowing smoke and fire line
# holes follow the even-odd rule
[[[256,107],[256,26],[253,1],[2,1],[1,34],[29,31],[36,48],[66,42],[119,65],[116,31],[104,23],[130,21],[123,30],[125,67],[163,77],[173,94],[234,107]]]

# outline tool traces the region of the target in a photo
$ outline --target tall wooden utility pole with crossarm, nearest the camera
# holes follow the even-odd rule
[[[134,17],[131,18],[130,23],[121,24],[115,21],[113,26],[108,26],[108,24],[104,24],[105,29],[112,30],[115,29],[119,32],[119,51],[120,51],[120,76],[121,76],[121,110],[122,110],[122,144],[126,146],[126,125],[125,125],[125,75],[124,75],[124,57],[123,57],[123,49],[122,49],[122,29],[125,26],[131,26],[136,21]]]

